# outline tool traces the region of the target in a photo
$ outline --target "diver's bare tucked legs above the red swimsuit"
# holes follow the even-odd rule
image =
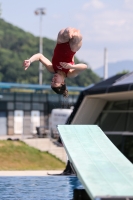
[[[71,50],[74,52],[78,51],[82,45],[82,36],[80,31],[70,27],[62,29],[58,33],[57,43],[65,43],[68,41],[70,43]]]

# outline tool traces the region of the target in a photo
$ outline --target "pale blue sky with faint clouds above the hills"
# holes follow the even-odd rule
[[[80,29],[83,45],[78,59],[95,70],[103,66],[104,49],[108,62],[133,60],[133,0],[0,0],[5,21],[40,35],[40,16],[45,8],[42,35],[56,40],[59,30]],[[35,52],[37,53],[37,52]]]

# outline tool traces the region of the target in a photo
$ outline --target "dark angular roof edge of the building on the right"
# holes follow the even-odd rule
[[[79,106],[81,105],[86,95],[125,92],[130,90],[133,90],[133,72],[124,75],[118,74],[106,80],[100,81],[90,88],[85,88],[83,91],[81,91],[74,110],[67,121],[67,124],[72,122]]]

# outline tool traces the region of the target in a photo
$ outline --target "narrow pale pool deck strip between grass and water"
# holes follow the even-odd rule
[[[48,176],[49,174],[60,174],[62,170],[40,170],[40,171],[0,171],[1,176]]]

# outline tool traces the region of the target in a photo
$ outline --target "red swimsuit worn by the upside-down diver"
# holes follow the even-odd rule
[[[70,48],[69,42],[57,44],[54,49],[54,55],[52,58],[52,64],[54,71],[62,70],[63,72],[68,73],[69,69],[64,69],[60,65],[60,62],[66,62],[74,64],[73,56],[76,52],[73,52]]]

